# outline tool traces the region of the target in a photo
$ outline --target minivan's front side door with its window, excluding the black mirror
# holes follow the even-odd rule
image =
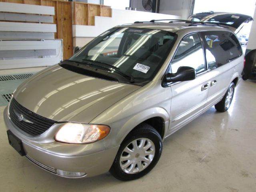
[[[170,84],[172,91],[170,112],[170,134],[200,115],[207,102],[210,77],[206,71],[204,50],[198,33],[182,38],[171,61],[171,73],[180,66],[190,66],[196,70],[196,78],[190,81]]]

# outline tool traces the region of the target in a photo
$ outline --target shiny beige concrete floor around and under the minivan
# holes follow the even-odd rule
[[[241,81],[228,112],[211,108],[172,134],[156,167],[130,182],[109,173],[66,179],[41,170],[9,146],[0,107],[0,191],[255,192],[255,95],[256,82]]]

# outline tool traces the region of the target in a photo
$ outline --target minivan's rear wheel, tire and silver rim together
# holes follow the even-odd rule
[[[234,82],[232,82],[222,100],[214,105],[215,109],[218,112],[225,112],[226,110],[228,110],[234,97],[234,91],[235,84]]]

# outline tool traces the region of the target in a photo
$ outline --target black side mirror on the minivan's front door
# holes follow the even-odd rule
[[[167,73],[166,82],[190,81],[196,78],[196,70],[192,67],[179,67],[176,73]]]

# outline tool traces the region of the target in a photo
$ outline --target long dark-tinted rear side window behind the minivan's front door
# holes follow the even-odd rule
[[[238,39],[231,32],[202,32],[206,62],[209,70],[214,70],[242,55]]]

